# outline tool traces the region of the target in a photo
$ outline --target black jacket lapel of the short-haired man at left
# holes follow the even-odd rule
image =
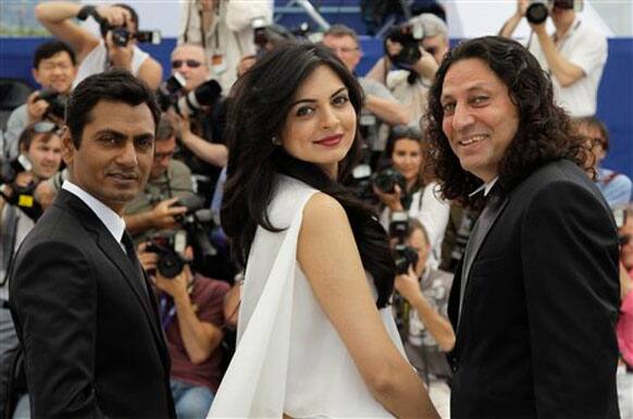
[[[103,251],[103,254],[114,263],[114,266],[121,271],[125,282],[129,287],[132,287],[136,298],[138,299],[142,310],[145,311],[146,318],[150,323],[150,329],[157,341],[157,345],[160,348],[160,353],[163,358],[166,358],[164,336],[162,329],[160,326],[160,321],[158,319],[158,311],[156,310],[156,305],[152,305],[150,298],[153,298],[151,289],[147,289],[148,282],[142,269],[138,272],[137,267],[134,267],[127,256],[124,254],[123,248],[120,244],[112,237],[112,234],[108,231],[105,225],[101,220],[92,212],[92,210],[84,204],[75,195],[69,193],[67,190],[61,189],[58,194],[58,198],[54,202],[55,206],[64,209],[71,210],[74,215],[79,220],[84,227],[94,236],[97,245]],[[137,275],[141,274],[141,278]],[[146,287],[144,289],[142,287]],[[149,297],[148,297],[149,296]],[[165,359],[163,359],[163,362]]]

